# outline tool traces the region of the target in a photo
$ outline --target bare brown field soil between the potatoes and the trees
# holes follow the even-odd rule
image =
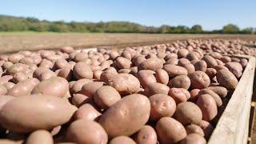
[[[172,42],[189,38],[241,38],[256,41],[256,34],[59,34],[59,33],[0,33],[0,54],[19,50],[58,49],[61,46],[74,48],[110,46],[142,46]],[[254,98],[256,95],[254,94]],[[254,122],[256,122],[256,118]],[[251,143],[256,143],[256,123],[252,129]]]

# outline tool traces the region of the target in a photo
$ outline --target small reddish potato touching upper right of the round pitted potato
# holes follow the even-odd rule
[[[174,101],[178,104],[181,102],[186,102],[186,94],[183,92],[181,88],[170,88],[168,95],[171,98],[174,98]]]

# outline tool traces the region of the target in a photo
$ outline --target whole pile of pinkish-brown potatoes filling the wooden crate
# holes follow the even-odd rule
[[[206,143],[248,60],[197,42],[0,56],[0,143]]]

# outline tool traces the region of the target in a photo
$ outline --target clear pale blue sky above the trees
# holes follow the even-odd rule
[[[200,24],[204,30],[214,30],[228,23],[256,27],[255,6],[256,0],[0,0],[0,14],[66,22]]]

